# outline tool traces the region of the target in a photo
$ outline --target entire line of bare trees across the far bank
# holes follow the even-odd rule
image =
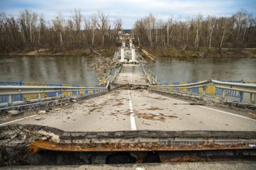
[[[110,22],[108,14],[102,11],[85,18],[75,9],[68,18],[59,13],[50,21],[42,13],[28,9],[16,17],[0,13],[0,52],[112,47],[121,30],[122,20]],[[132,33],[142,47],[196,51],[256,47],[256,18],[244,9],[226,17],[198,15],[186,19],[170,17],[167,21],[149,13],[134,23]]]

